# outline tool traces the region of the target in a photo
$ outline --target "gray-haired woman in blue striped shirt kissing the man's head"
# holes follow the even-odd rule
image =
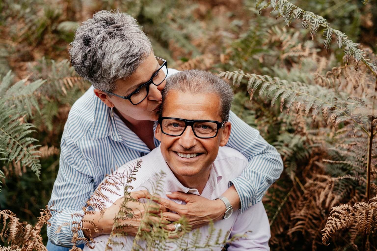
[[[77,29],[71,45],[72,66],[93,86],[72,106],[64,126],[60,167],[49,202],[49,205],[54,202],[54,209],[61,213],[52,212],[51,226],[47,229],[49,251],[68,250],[58,246],[72,246],[73,223],[81,222],[79,214],[83,214],[83,206],[106,174],[159,145],[154,132],[161,91],[166,75],[175,71],[167,68],[165,60],[155,57],[136,20],[123,13],[97,12]],[[262,199],[271,183],[279,178],[283,165],[280,154],[256,129],[232,112],[229,121],[233,129],[227,146],[241,152],[249,163],[222,195],[234,210],[241,208],[244,212]],[[233,168],[231,163],[229,168]],[[137,193],[132,195],[139,199]],[[180,200],[186,196],[176,191],[169,195]],[[220,220],[226,211],[219,200],[194,194],[188,198],[184,209],[174,203],[166,205],[169,208],[161,205],[160,209],[166,211],[164,218],[175,221],[185,214],[190,225],[199,228],[207,225],[209,219]],[[139,205],[129,203],[129,206]],[[178,214],[169,213],[168,209]],[[108,234],[117,210],[116,206],[110,206],[101,220],[99,214],[87,215],[85,220],[93,220],[102,229],[101,234]],[[134,227],[126,231],[134,236],[139,223],[132,224]],[[87,221],[83,227],[91,230],[92,237],[99,235]],[[77,234],[80,238],[89,237],[89,231]]]

